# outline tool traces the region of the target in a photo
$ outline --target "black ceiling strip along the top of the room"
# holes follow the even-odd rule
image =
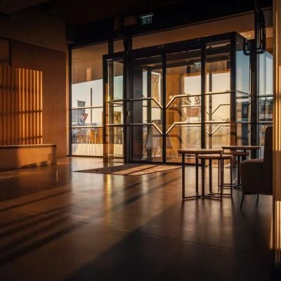
[[[262,8],[272,6],[272,0],[257,0]],[[222,15],[244,13],[254,8],[254,0],[51,0],[33,9],[53,15],[72,25],[81,25],[114,15],[132,15],[150,11],[165,13],[167,19],[177,13],[188,22],[197,22]]]

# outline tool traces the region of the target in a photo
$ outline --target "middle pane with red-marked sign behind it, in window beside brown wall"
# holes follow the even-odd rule
[[[103,107],[72,110],[72,126],[103,126]]]

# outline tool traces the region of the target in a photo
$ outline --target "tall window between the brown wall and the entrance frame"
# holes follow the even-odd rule
[[[72,155],[103,156],[103,55],[107,51],[107,44],[72,49]]]

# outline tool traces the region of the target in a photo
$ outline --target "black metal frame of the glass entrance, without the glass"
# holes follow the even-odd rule
[[[206,137],[205,137],[205,127],[206,127],[206,118],[205,118],[205,98],[204,93],[206,92],[206,46],[207,44],[216,44],[220,41],[230,41],[230,140],[231,136],[234,135],[233,124],[236,122],[236,110],[235,110],[235,83],[236,83],[236,73],[235,73],[235,42],[237,36],[240,37],[236,32],[229,32],[226,34],[218,34],[210,37],[202,37],[200,39],[191,39],[188,41],[180,41],[171,44],[164,44],[159,46],[152,46],[148,48],[134,49],[131,51],[113,53],[109,55],[103,55],[103,120],[106,120],[106,94],[107,94],[107,61],[108,60],[124,60],[124,71],[123,71],[123,118],[124,118],[124,162],[139,162],[131,160],[131,139],[129,133],[129,94],[132,93],[133,84],[132,84],[132,61],[136,58],[145,58],[148,56],[161,55],[162,56],[162,162],[166,162],[166,55],[169,53],[176,53],[181,51],[190,51],[192,49],[201,49],[201,147],[206,147]],[[106,122],[103,122],[103,140],[104,140],[104,151],[107,144],[106,141]],[[232,144],[233,141],[231,141]],[[105,160],[105,153],[103,155]],[[143,162],[142,162],[143,163]],[[150,161],[145,161],[145,163],[155,163]],[[175,163],[173,163],[175,164]]]

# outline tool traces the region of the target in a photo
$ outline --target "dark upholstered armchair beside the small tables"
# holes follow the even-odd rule
[[[244,195],[273,194],[273,128],[266,128],[264,152],[262,159],[249,159],[240,163],[241,185],[243,190],[240,208],[242,208]]]

